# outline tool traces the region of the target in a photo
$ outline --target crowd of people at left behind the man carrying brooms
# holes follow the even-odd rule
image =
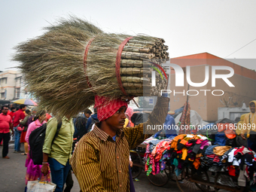
[[[50,118],[51,116],[47,114],[47,111],[38,110],[36,107],[29,110],[26,108],[26,105],[20,105],[18,109],[3,105],[0,114],[0,142],[2,142],[3,146],[2,158],[10,158],[8,157],[8,145],[11,136],[13,136],[13,152],[26,155],[26,185],[28,181],[36,181],[38,178],[44,181],[50,181],[51,174],[52,181],[56,184],[56,191],[62,191],[65,181],[65,191],[70,191],[73,186],[73,180],[72,174],[69,174],[68,177],[68,173],[71,173],[69,159],[74,150],[73,138],[75,138],[75,142],[79,141],[87,133],[88,128],[92,126],[91,124],[96,122],[96,113],[93,114],[93,117],[90,117],[91,114],[92,111],[87,109],[75,118],[63,117],[60,120],[62,122],[61,129],[56,138],[53,139],[53,136],[55,136],[53,132],[56,132],[55,128],[57,126],[55,127],[55,123],[57,121],[56,118]],[[31,154],[29,154],[29,136],[33,130],[42,126],[44,123],[47,123],[47,132],[43,147],[44,160],[42,165],[38,165],[34,164]],[[24,145],[24,151],[20,150],[22,143]]]

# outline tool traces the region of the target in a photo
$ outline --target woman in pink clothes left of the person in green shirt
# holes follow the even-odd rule
[[[32,133],[33,130],[41,126],[45,121],[46,111],[38,111],[34,117],[34,121],[29,124],[28,130],[26,132],[26,142],[29,144],[29,135]],[[29,147],[30,150],[30,147]],[[41,175],[41,165],[34,165],[33,160],[30,158],[29,154],[26,157],[26,184],[28,181],[35,181],[38,180],[41,176],[41,180],[50,181],[50,172],[44,177]]]

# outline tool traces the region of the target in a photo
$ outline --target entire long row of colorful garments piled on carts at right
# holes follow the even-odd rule
[[[181,134],[169,139],[151,140],[145,153],[147,175],[158,174],[166,168],[166,163],[175,166],[179,175],[184,166],[200,167],[210,172],[228,172],[238,178],[239,186],[249,182],[251,190],[256,190],[256,153],[244,146],[211,145],[201,135]]]

